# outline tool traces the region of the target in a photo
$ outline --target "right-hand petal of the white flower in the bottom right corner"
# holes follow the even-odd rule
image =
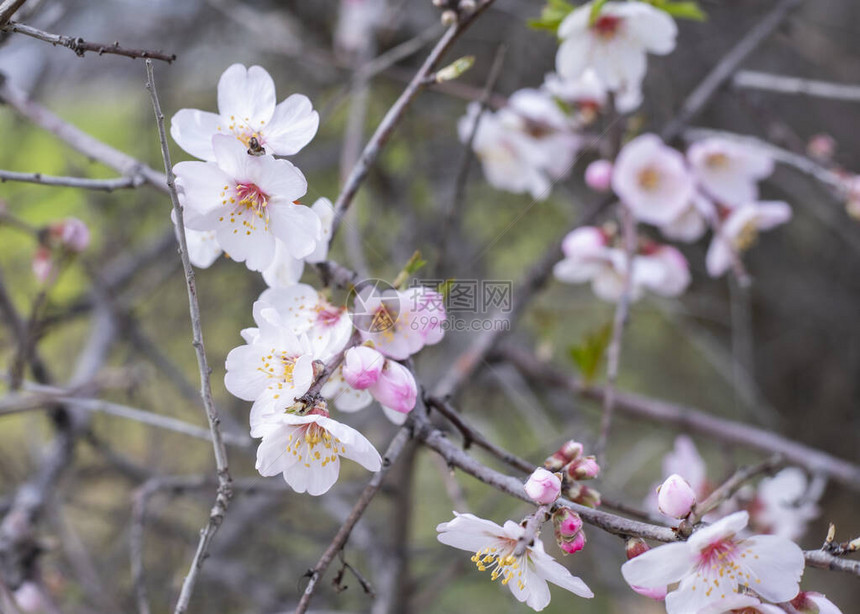
[[[775,603],[790,601],[797,595],[806,565],[797,544],[776,535],[756,535],[740,546],[748,552],[744,563],[756,578],[750,581],[750,588]]]

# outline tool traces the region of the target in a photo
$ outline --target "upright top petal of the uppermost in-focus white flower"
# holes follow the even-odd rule
[[[275,111],[275,83],[260,66],[233,64],[218,81],[218,112],[237,127],[258,129]]]

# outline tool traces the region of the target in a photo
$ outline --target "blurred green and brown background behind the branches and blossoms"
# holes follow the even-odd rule
[[[643,131],[658,130],[776,4],[703,2],[707,21],[679,22],[676,51],[649,57],[645,104],[634,121]],[[506,53],[494,103],[517,89],[538,87],[554,68],[555,40],[526,25],[541,8],[539,1],[497,0],[456,43],[443,64],[473,55],[474,67],[445,87],[429,88],[415,102],[351,208],[333,246],[333,259],[363,275],[391,280],[418,249],[428,260],[419,277],[434,278],[441,271],[445,278],[515,282],[595,202],[581,179],[593,154],[585,155],[544,202],[491,188],[477,163],[472,164],[464,197],[455,200],[455,178],[465,155],[456,123],[468,102],[480,97],[498,47],[504,45]],[[317,137],[292,159],[308,178],[307,199],[312,202],[319,196],[336,198],[360,148],[443,32],[439,15],[425,0],[43,0],[28,2],[17,19],[90,41],[175,53],[171,65],[155,66],[168,117],[185,107],[215,111],[216,84],[227,66],[262,65],[275,80],[278,100],[300,92],[320,112]],[[860,5],[808,0],[742,68],[860,85],[858,40]],[[399,56],[396,61],[368,77],[368,63],[392,49]],[[140,60],[76,57],[68,49],[0,33],[0,75],[64,120],[161,168]],[[804,158],[809,140],[827,134],[836,149],[823,166],[836,175],[860,170],[858,100],[730,84],[692,125],[767,139]],[[0,142],[0,169],[116,176],[8,106],[0,106]],[[175,146],[172,154],[174,162],[188,159]],[[680,300],[649,298],[634,305],[619,385],[773,429],[858,462],[860,223],[846,209],[844,194],[795,167],[779,165],[763,184],[763,195],[789,202],[794,219],[763,236],[747,255],[754,280],[749,309],[738,313],[737,297],[733,301],[726,279],[707,277],[705,241],[683,246],[693,283]],[[95,368],[102,389],[93,396],[205,428],[168,197],[148,186],[102,193],[6,182],[0,184],[0,203],[2,283],[22,317],[37,315],[36,347],[51,381],[69,382],[81,368],[79,353],[86,354],[94,343],[92,331],[113,327],[115,339],[102,348],[103,360]],[[457,224],[440,264],[442,220],[452,203]],[[43,296],[31,270],[36,241],[12,220],[38,228],[69,216],[86,222],[92,242]],[[224,430],[234,437],[230,463],[242,488],[213,544],[191,610],[291,611],[306,582],[303,574],[316,563],[369,476],[345,463],[341,480],[320,498],[296,495],[280,479],[257,476],[255,447],[247,437],[249,404],[224,389],[223,364],[230,349],[242,343],[238,333],[252,324],[251,305],[265,286],[259,275],[225,258],[199,271],[197,279],[214,393]],[[311,268],[304,279],[320,285]],[[571,347],[599,331],[612,315],[613,307],[597,300],[587,285],[551,281],[504,344],[533,351],[575,374]],[[4,319],[8,323],[8,317]],[[441,344],[422,352],[417,360],[422,381],[432,386],[478,334],[448,333]],[[4,372],[12,370],[17,345],[13,327],[0,326]],[[27,381],[38,379],[31,369],[24,375]],[[0,388],[8,388],[8,383],[7,378]],[[566,439],[587,446],[596,440],[597,405],[532,381],[504,362],[484,365],[456,404],[490,439],[535,463]],[[61,411],[48,409],[0,413],[4,516],[20,486],[41,475],[44,454],[57,444]],[[380,450],[395,431],[375,408],[345,421]],[[640,507],[659,478],[661,459],[676,434],[660,424],[619,416],[608,471],[598,488],[612,500]],[[736,466],[760,458],[704,436],[694,439],[715,482]],[[211,506],[213,483],[202,477],[194,482],[197,476],[214,476],[210,444],[91,413],[70,445],[72,464],[58,470],[40,511],[35,535],[40,551],[26,561],[24,576],[39,578],[58,611],[136,611],[133,577],[141,570],[135,572],[132,563],[134,543],[142,553],[136,560],[142,562],[152,609],[167,611]],[[480,451],[474,454],[498,467]],[[140,489],[163,476],[190,478],[176,487]],[[141,502],[146,503],[142,519]],[[828,522],[836,523],[839,539],[855,537],[858,503],[856,491],[829,484],[820,501],[822,514],[801,545],[818,547]],[[346,548],[346,560],[373,585],[376,599],[366,595],[348,571],[341,583],[347,590],[333,586],[336,561],[318,588],[312,611],[524,611],[508,591],[474,570],[468,554],[438,544],[435,526],[449,520],[452,509],[499,523],[530,511],[468,476],[450,472],[432,452],[411,451],[393,470]],[[623,582],[618,571],[624,561],[622,543],[596,529],[586,531],[585,550],[563,562],[597,597],[585,601],[554,589],[545,611],[663,611]],[[560,558],[551,535],[545,535],[545,542]],[[0,561],[8,574],[9,560]],[[844,574],[808,569],[803,586],[826,593],[843,612],[852,611],[850,604],[860,599],[856,578]]]

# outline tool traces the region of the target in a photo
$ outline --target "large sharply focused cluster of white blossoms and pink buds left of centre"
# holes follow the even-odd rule
[[[307,182],[276,156],[304,147],[319,117],[300,94],[275,104],[269,74],[239,64],[221,76],[218,109],[183,109],[171,122],[177,144],[202,160],[174,167],[189,256],[207,267],[227,252],[269,286],[253,305],[255,326],[241,331],[245,344],[227,356],[224,383],[253,403],[251,436],[262,440],[257,471],[320,495],[337,481],[341,457],[370,471],[382,463],[364,435],[330,416],[329,405],[351,412],[376,399],[402,423],[418,387],[398,361],[442,339],[442,297],[421,287],[359,293],[354,320],[298,283],[305,262],[327,257],[334,210],[324,198],[300,204]]]

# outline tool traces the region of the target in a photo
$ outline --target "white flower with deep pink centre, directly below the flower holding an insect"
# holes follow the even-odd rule
[[[296,258],[316,249],[319,217],[294,201],[307,191],[301,172],[286,160],[249,156],[230,137],[212,139],[215,162],[180,162],[174,167],[185,225],[215,231],[230,258],[252,271],[272,262],[275,238]]]

